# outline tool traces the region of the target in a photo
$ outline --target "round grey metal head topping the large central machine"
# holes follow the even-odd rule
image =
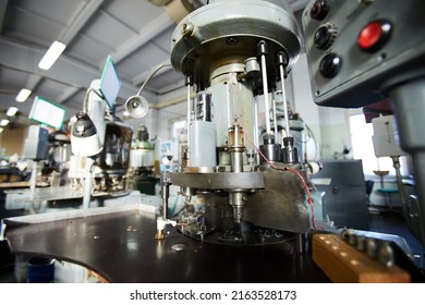
[[[181,21],[172,35],[171,63],[192,74],[195,82],[231,62],[257,56],[257,44],[267,42],[269,58],[283,51],[291,66],[301,42],[292,13],[266,1],[222,1],[205,5]]]

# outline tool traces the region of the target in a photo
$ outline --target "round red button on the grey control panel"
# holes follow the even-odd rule
[[[360,32],[357,45],[364,51],[376,51],[388,40],[390,32],[391,24],[389,22],[371,22]]]

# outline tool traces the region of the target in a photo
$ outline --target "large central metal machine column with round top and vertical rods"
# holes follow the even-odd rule
[[[183,19],[171,39],[171,63],[187,86],[189,145],[180,170],[162,173],[157,237],[170,218],[172,184],[205,205],[205,210],[186,206],[177,223],[182,234],[239,245],[296,236],[302,252],[315,223],[308,213],[308,172],[291,136],[286,100],[284,78],[301,50],[294,16],[270,1],[215,1]],[[270,97],[277,90],[286,122],[282,144],[270,119]],[[266,114],[262,138],[260,102]]]

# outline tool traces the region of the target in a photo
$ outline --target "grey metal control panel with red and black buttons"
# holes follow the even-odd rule
[[[423,0],[314,0],[302,23],[317,105],[362,107],[425,75]]]

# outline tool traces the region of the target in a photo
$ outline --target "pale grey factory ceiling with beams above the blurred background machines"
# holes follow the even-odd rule
[[[82,109],[85,91],[100,78],[108,56],[122,80],[117,100],[117,115],[122,115],[126,98],[169,59],[177,21],[206,1],[0,0],[0,119],[14,106],[20,115],[10,127],[28,124],[35,96],[64,107],[69,119]],[[289,2],[300,11],[307,1]],[[54,40],[66,48],[50,70],[40,70],[38,62]],[[151,105],[163,105],[183,85],[183,76],[169,66],[145,90]],[[22,88],[33,93],[21,103],[15,97]],[[183,114],[184,108],[173,111]]]

